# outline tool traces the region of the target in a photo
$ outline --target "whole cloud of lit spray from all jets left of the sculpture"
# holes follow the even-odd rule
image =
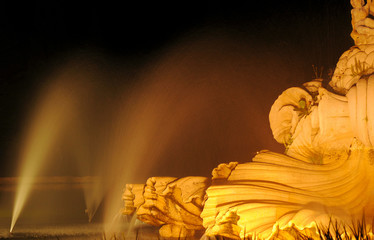
[[[83,188],[86,212],[91,221],[101,208],[110,231],[126,183],[210,177],[220,163],[282,151],[268,112],[284,89],[310,79],[296,53],[246,40],[210,32],[133,68],[78,54],[52,71],[25,131],[11,230],[38,175],[95,176]]]

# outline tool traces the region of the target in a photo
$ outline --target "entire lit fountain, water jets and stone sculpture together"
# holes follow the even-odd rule
[[[232,239],[291,238],[299,233],[318,237],[318,225],[328,225],[331,219],[337,219],[342,227],[352,220],[362,219],[363,215],[366,222],[370,222],[374,209],[371,191],[374,186],[370,177],[374,170],[374,112],[369,107],[374,96],[371,5],[371,2],[352,0],[352,37],[356,46],[340,58],[330,81],[333,90],[322,87],[322,79],[316,74],[315,79],[303,86],[285,90],[274,102],[270,126],[276,141],[286,146],[284,154],[263,150],[250,162],[238,163],[229,161],[231,157],[238,159],[240,154],[228,151],[225,158],[228,163],[219,164],[211,178],[151,177],[145,184],[127,184],[122,207],[119,196],[124,183],[140,182],[149,176],[151,169],[168,156],[166,152],[173,151],[175,139],[188,136],[191,126],[205,130],[209,124],[198,123],[211,117],[207,109],[212,109],[214,104],[240,97],[238,102],[255,102],[258,96],[252,91],[254,87],[234,80],[221,82],[221,86],[214,89],[195,82],[175,84],[170,79],[180,73],[171,72],[166,77],[158,76],[169,80],[151,81],[148,86],[140,84],[134,92],[129,91],[125,103],[114,98],[120,107],[102,114],[108,115],[105,117],[111,120],[111,125],[100,126],[100,133],[95,135],[89,134],[92,129],[85,130],[86,123],[95,120],[84,116],[87,111],[81,111],[85,109],[81,104],[87,92],[97,94],[92,83],[78,81],[77,84],[64,79],[52,84],[46,88],[45,98],[38,105],[26,134],[10,232],[51,149],[71,129],[74,131],[68,134],[73,136],[69,151],[79,159],[79,171],[82,175],[97,176],[92,181],[93,186],[83,188],[89,222],[100,205],[104,209],[105,223],[112,223],[113,216],[121,220],[122,215],[130,215],[130,228],[125,230],[127,236],[136,219],[159,227],[162,237],[204,234],[205,238],[220,235]],[[193,58],[193,62],[198,60]],[[261,92],[259,86],[255,87]],[[165,91],[167,88],[171,90]],[[249,92],[253,92],[253,96]],[[180,95],[182,97],[178,98]],[[222,100],[222,96],[226,99]],[[242,105],[235,110],[241,110]],[[252,111],[256,113],[262,108],[253,106]],[[225,112],[220,114],[225,115]],[[92,128],[99,128],[101,122],[97,122]],[[218,125],[212,122],[214,124]],[[234,129],[240,134],[240,128]],[[196,136],[207,132],[201,131]],[[196,139],[196,136],[185,139]],[[87,147],[90,145],[88,138],[97,141],[91,143],[91,148]],[[260,142],[243,139],[253,141],[251,144]],[[231,145],[229,148],[224,141],[212,142],[219,143],[215,150],[239,149]],[[203,146],[204,141],[196,141],[196,144]],[[93,164],[96,158],[105,161]],[[122,164],[118,164],[119,159]],[[196,168],[205,167],[199,160],[191,165],[194,164]],[[85,169],[87,165],[92,171]],[[367,232],[372,231],[369,225],[365,225],[366,228]],[[104,226],[103,231],[111,230],[113,225]],[[338,230],[343,231],[340,227]]]

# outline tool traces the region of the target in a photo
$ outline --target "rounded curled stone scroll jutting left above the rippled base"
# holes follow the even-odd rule
[[[293,87],[284,91],[271,107],[269,120],[277,142],[290,144],[300,119],[308,114],[312,96],[302,88]]]

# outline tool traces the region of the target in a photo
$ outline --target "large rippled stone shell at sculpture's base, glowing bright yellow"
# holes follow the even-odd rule
[[[291,223],[300,230],[313,223],[328,226],[335,218],[343,225],[350,224],[365,216],[371,225],[371,151],[357,142],[350,150],[350,154],[321,165],[269,151],[256,155],[252,162],[238,164],[225,184],[207,189],[201,214],[204,227],[210,230],[216,226],[217,213],[231,207],[240,217],[237,226],[242,239],[251,235],[270,239],[276,223],[280,229]],[[219,235],[219,231],[215,233]]]

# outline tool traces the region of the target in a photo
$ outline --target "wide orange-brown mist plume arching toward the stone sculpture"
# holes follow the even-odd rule
[[[118,214],[124,183],[209,177],[220,163],[250,161],[262,149],[281,152],[268,112],[303,77],[286,51],[209,35],[176,44],[142,68],[139,84],[118,101],[104,221]]]

